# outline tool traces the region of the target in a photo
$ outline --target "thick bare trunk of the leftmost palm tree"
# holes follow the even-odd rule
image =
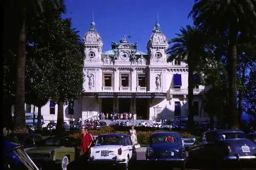
[[[23,20],[22,28],[19,32],[19,42],[17,49],[17,81],[14,111],[14,131],[16,133],[28,132],[25,117],[25,65],[26,65],[26,24]]]

